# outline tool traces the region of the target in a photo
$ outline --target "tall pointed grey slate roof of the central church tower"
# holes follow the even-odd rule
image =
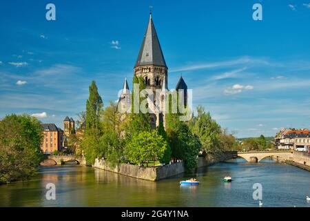
[[[154,27],[152,14],[149,15],[149,24],[147,25],[147,30],[143,38],[138,59],[136,60],[136,65],[134,67],[143,65],[156,65],[167,68],[163,51],[161,50],[161,44],[159,43]]]

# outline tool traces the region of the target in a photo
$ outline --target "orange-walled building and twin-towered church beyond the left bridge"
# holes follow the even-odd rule
[[[75,133],[74,119],[65,117],[63,120],[63,131],[55,124],[41,124],[43,141],[41,143],[41,151],[45,154],[54,153],[68,148],[68,137]]]

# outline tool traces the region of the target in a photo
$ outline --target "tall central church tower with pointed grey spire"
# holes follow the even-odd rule
[[[152,12],[149,14],[147,30],[134,66],[134,75],[143,77],[146,87],[153,90],[155,104],[156,100],[160,99],[156,97],[156,90],[161,90],[163,84],[167,85],[168,67],[155,30]],[[158,113],[151,114],[152,128],[156,128],[160,122],[163,122],[162,118]]]

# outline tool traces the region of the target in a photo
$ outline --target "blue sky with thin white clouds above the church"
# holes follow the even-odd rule
[[[125,77],[132,88],[150,4],[169,88],[182,74],[194,106],[237,137],[310,127],[309,0],[1,1],[0,117],[39,114],[62,128],[85,109],[92,79],[105,104]]]

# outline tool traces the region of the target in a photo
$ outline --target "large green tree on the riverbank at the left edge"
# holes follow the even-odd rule
[[[8,115],[0,121],[0,183],[25,180],[37,171],[41,125],[29,115]]]

